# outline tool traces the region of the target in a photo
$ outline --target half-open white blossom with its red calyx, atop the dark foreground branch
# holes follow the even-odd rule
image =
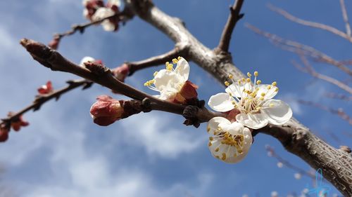
[[[175,69],[173,64],[166,62],[166,69],[155,72],[154,79],[144,83],[144,86],[159,92],[160,95],[156,95],[156,97],[161,100],[185,104],[187,100],[195,99],[198,96],[196,92],[198,86],[188,81],[189,64],[187,60],[178,57],[172,62],[177,64]]]

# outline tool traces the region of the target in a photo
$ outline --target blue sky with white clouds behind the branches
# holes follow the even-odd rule
[[[209,48],[217,46],[227,20],[230,0],[154,1],[163,11],[186,22],[189,31]],[[230,51],[242,72],[257,70],[265,83],[277,81],[279,97],[291,104],[294,116],[331,142],[326,130],[340,137],[342,144],[351,139],[348,123],[319,109],[300,106],[292,99],[301,98],[351,109],[351,103],[324,97],[324,93],[343,93],[332,85],[316,81],[298,72],[291,60],[298,58],[272,46],[266,39],[244,27],[248,22],[260,29],[287,39],[294,39],[325,51],[337,60],[351,56],[351,43],[318,29],[301,27],[267,8],[282,7],[301,18],[324,22],[344,30],[338,2],[321,1],[246,1],[245,17],[237,25]],[[352,4],[346,2],[348,9]],[[4,2],[3,2],[4,4]],[[304,6],[302,6],[304,4]],[[319,6],[317,6],[319,5]],[[327,15],[329,13],[329,15]],[[17,111],[29,104],[36,89],[51,80],[54,88],[65,86],[72,74],[51,72],[34,62],[18,44],[23,37],[48,43],[54,32],[68,30],[74,23],[84,22],[81,1],[39,0],[8,1],[0,6],[0,113]],[[351,13],[352,17],[352,13]],[[119,32],[104,32],[99,26],[84,34],[75,34],[61,41],[59,51],[68,59],[80,62],[84,56],[101,59],[108,67],[124,61],[143,60],[165,53],[173,43],[154,27],[134,18]],[[337,79],[348,76],[325,64],[316,69]],[[159,69],[159,68],[157,68]],[[137,72],[126,83],[146,92],[144,81],[156,68]],[[209,74],[191,63],[190,80],[199,85],[199,97],[208,100],[224,89]],[[309,166],[300,158],[284,151],[270,136],[258,135],[249,155],[236,165],[222,163],[210,155],[205,125],[199,129],[182,125],[180,116],[152,111],[118,121],[108,127],[92,123],[89,108],[98,95],[111,91],[101,86],[75,90],[49,102],[25,118],[30,126],[0,144],[0,165],[4,168],[0,182],[14,196],[279,196],[301,193],[310,179],[294,179],[294,171],[277,168],[268,158],[265,144],[301,168]],[[121,96],[113,95],[120,99]],[[351,110],[349,110],[351,111]],[[332,195],[331,195],[332,196]]]

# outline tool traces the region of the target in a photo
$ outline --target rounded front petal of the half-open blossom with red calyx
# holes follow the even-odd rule
[[[175,74],[175,72],[171,72],[167,69],[162,69],[154,76],[156,89],[160,91],[164,91],[169,87],[174,87],[180,81]]]

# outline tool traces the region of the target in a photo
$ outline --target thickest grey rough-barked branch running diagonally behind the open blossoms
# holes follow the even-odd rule
[[[132,0],[135,13],[161,30],[175,42],[180,55],[198,64],[221,83],[232,74],[241,79],[244,74],[234,66],[232,56],[226,51],[211,50],[203,46],[184,26],[184,23],[163,13],[148,0]],[[344,196],[352,196],[352,157],[350,154],[335,149],[310,132],[295,118],[285,125],[268,125],[258,133],[272,135],[282,142],[287,151],[306,161],[312,168],[322,168],[322,174]]]

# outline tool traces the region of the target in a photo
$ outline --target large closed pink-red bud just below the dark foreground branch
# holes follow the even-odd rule
[[[97,97],[96,100],[98,101],[96,101],[90,109],[94,123],[107,126],[120,120],[124,110],[118,100],[108,95],[101,95]]]

